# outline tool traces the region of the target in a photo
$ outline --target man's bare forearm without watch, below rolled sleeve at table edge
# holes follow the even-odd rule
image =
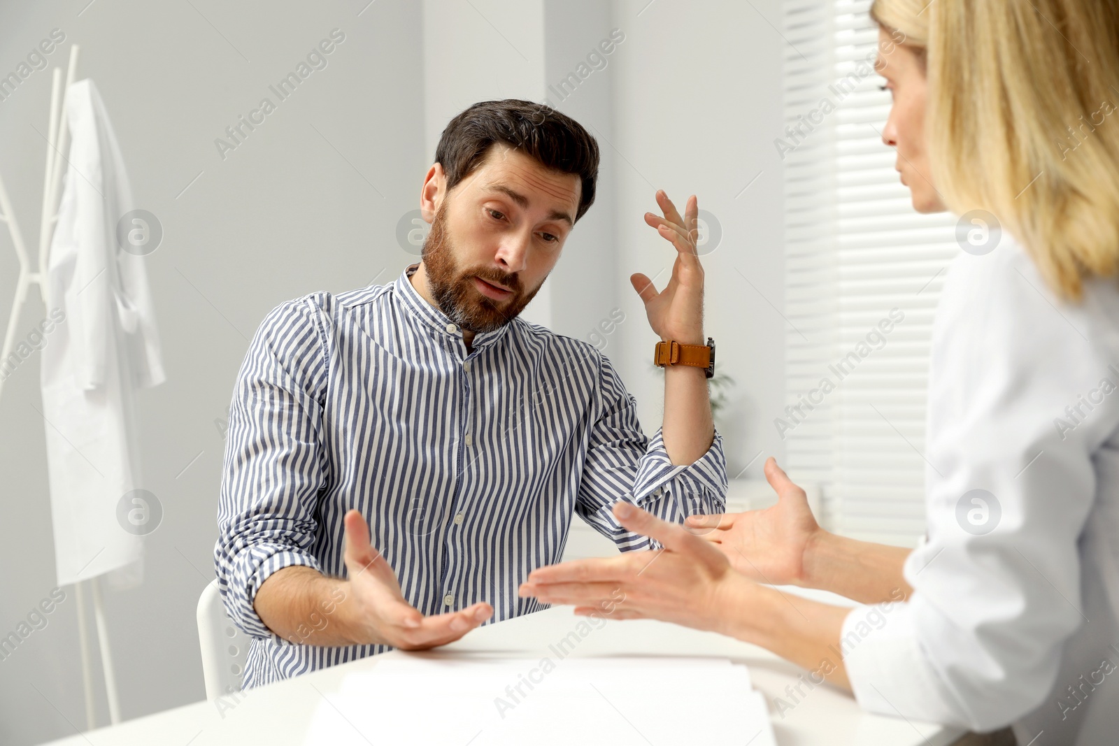
[[[372,642],[355,621],[347,580],[293,566],[269,576],[253,607],[274,633],[297,644],[355,645]]]

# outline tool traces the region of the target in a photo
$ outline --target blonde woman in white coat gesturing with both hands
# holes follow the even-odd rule
[[[883,140],[914,207],[963,216],[971,239],[934,322],[916,549],[824,531],[770,460],[774,507],[711,517],[717,528],[692,517],[688,531],[619,504],[627,528],[666,550],[540,568],[523,594],[590,614],[621,588],[612,616],[763,645],[875,712],[977,731],[1014,724],[1023,746],[1115,743],[1117,6],[872,7],[893,96]]]

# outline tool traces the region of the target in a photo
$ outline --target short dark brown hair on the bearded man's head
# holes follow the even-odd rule
[[[575,220],[583,217],[594,201],[599,143],[570,116],[546,104],[519,98],[479,102],[448,123],[435,149],[435,162],[446,173],[446,190],[470,176],[498,142],[549,169],[579,176],[583,189]]]

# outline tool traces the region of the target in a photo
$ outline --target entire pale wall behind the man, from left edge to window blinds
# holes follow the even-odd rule
[[[718,340],[720,370],[737,381],[721,417],[732,475],[760,450],[781,455],[770,424],[783,397],[784,334],[770,305],[782,305],[772,139],[789,50],[759,16],[777,25],[778,1],[367,2],[0,6],[0,74],[53,28],[67,40],[51,64],[65,64],[70,43],[82,45],[79,70],[101,88],[133,191],[164,229],[148,271],[169,380],[139,399],[145,488],[164,517],[149,537],[144,585],[106,594],[126,718],[203,697],[194,612],[213,577],[224,447],[215,421],[225,415],[248,339],[283,300],[384,282],[415,261],[397,245],[397,223],[417,207],[446,120],[474,101],[548,97],[600,138],[598,200],[532,313],[592,339],[614,308],[624,310],[624,322],[599,331],[649,432],[660,422],[660,377],[628,276],[655,275],[673,258],[641,219],[656,209],[653,190],[665,188],[681,205],[698,193],[723,229],[705,258],[707,328]],[[214,140],[336,27],[346,41],[327,68],[223,160]],[[564,101],[549,96],[547,86],[579,70],[613,28],[626,38],[606,66]],[[32,242],[46,147],[36,129],[45,132],[49,88],[49,73],[37,72],[0,102],[0,173]],[[0,232],[4,315],[13,282]],[[41,318],[38,302],[23,309],[18,329]],[[38,400],[32,358],[0,398],[8,528],[0,563],[9,570],[0,577],[0,635],[54,587],[46,425],[31,406]],[[744,475],[756,475],[761,463]],[[39,743],[84,724],[75,606],[69,592],[45,629],[0,660],[0,743]],[[101,723],[103,701],[98,692]]]

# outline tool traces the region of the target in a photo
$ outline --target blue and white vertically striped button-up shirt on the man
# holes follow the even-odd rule
[[[299,644],[253,610],[283,567],[346,576],[350,508],[421,613],[485,601],[491,621],[545,607],[517,587],[560,561],[574,513],[629,550],[649,539],[618,525],[618,500],[677,522],[724,509],[717,433],[697,462],[673,465],[605,357],[521,319],[477,334],[468,355],[408,282],[416,266],[280,304],[237,375],[215,565],[226,611],[252,635],[245,689],[391,650]]]

